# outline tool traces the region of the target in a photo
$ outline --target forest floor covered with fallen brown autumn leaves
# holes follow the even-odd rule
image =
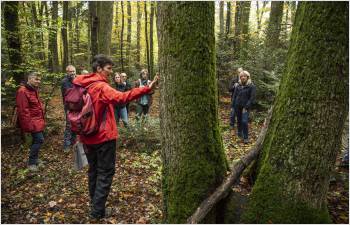
[[[135,124],[133,112],[130,115],[131,131],[119,128],[116,174],[107,201],[107,207],[113,208],[113,215],[100,223],[162,221],[158,99],[159,91],[156,91],[145,128]],[[229,115],[230,98],[221,97],[219,116],[223,143],[229,162],[234,162],[254,144],[264,115],[252,115],[249,145],[244,145],[231,134]],[[39,172],[28,171],[26,147],[21,147],[20,143],[2,147],[2,223],[96,222],[88,217],[87,167],[76,171],[73,153],[63,152],[64,123],[62,100],[57,91],[48,107],[45,143],[40,152],[44,166]],[[2,128],[2,132],[6,132],[6,129]],[[327,197],[328,207],[334,223],[348,223],[348,169],[337,167],[334,178]],[[248,180],[242,177],[234,190],[249,195],[251,187]]]

